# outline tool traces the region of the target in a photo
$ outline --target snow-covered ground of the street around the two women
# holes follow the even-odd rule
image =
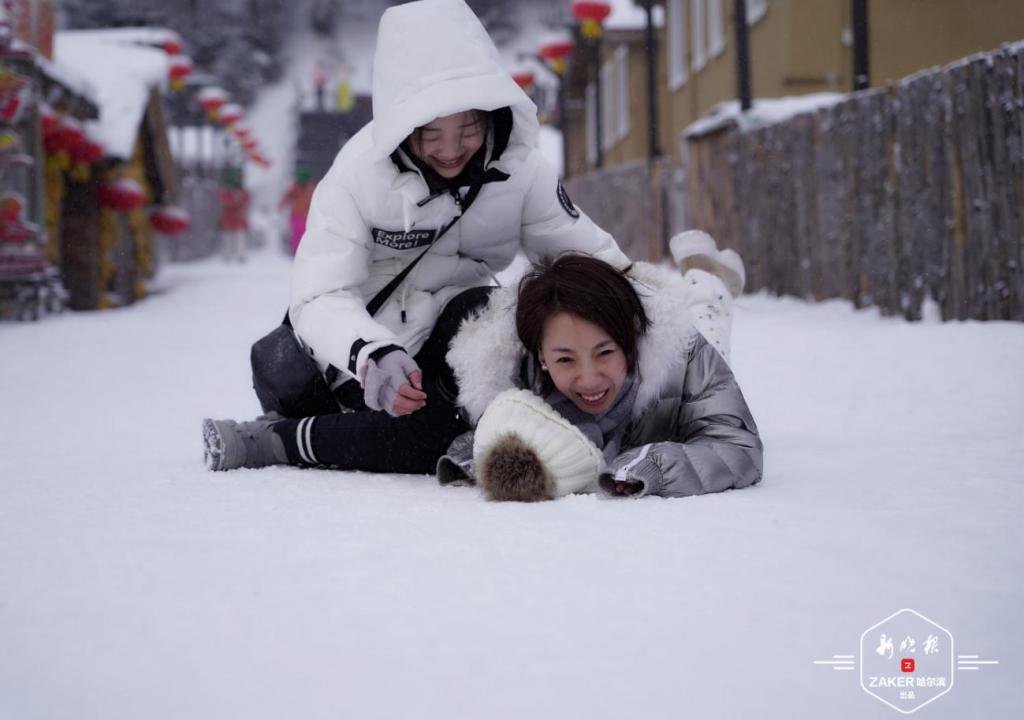
[[[745,297],[762,484],[524,506],[207,472],[286,296],[267,253],[0,326],[0,718],[897,717],[813,662],[902,607],[1000,662],[922,717],[1024,714],[1024,325]]]

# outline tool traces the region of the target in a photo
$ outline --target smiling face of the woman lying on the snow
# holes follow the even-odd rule
[[[540,355],[555,387],[590,415],[610,410],[626,382],[623,348],[600,326],[579,315],[548,317]]]

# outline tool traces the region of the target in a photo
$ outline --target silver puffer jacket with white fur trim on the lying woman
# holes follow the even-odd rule
[[[630,270],[651,328],[638,349],[640,387],[623,452],[602,473],[642,483],[643,495],[687,496],[745,488],[761,480],[763,447],[732,371],[693,328],[684,308],[687,285],[647,263]],[[459,404],[475,423],[502,390],[529,387],[529,363],[515,333],[515,288],[492,295],[452,341],[449,364]],[[441,482],[473,478],[472,433],[455,440],[437,465]]]

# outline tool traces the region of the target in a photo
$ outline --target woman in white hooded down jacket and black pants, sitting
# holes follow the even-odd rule
[[[431,472],[468,427],[455,409],[447,344],[486,301],[494,274],[520,250],[629,263],[542,159],[537,108],[463,0],[384,13],[373,101],[373,122],[313,194],[292,271],[289,319],[339,412],[297,417],[294,398],[263,393],[276,415],[204,421],[211,469]]]

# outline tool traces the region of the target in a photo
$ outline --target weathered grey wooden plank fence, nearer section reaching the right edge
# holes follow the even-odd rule
[[[687,224],[748,290],[1024,321],[1024,43],[788,121],[687,138]]]

